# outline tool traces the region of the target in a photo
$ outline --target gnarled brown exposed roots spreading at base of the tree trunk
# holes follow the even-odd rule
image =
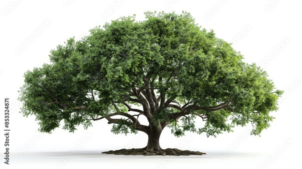
[[[189,150],[179,150],[177,148],[167,148],[167,149],[161,149],[161,150],[155,150],[154,148],[150,148],[146,150],[145,148],[132,148],[132,149],[120,149],[115,151],[106,151],[102,152],[105,154],[114,154],[114,155],[203,155],[206,153],[202,153],[199,151],[189,151]]]

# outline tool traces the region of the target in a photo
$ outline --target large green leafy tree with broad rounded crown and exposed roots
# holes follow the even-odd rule
[[[63,129],[74,132],[101,119],[115,134],[145,132],[144,148],[104,152],[127,155],[204,154],[162,149],[159,137],[167,126],[177,137],[185,131],[216,137],[246,124],[259,135],[270,126],[269,113],[278,110],[283,91],[265,71],[244,63],[190,13],[145,14],[145,21],[121,17],[51,50],[51,64],[24,74],[21,113],[35,115],[40,132],[51,133],[62,120]],[[203,128],[195,128],[195,118],[205,121]]]

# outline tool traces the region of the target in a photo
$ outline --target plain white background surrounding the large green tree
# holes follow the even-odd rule
[[[120,2],[117,4],[117,2]],[[14,4],[15,3],[15,4]],[[294,168],[301,152],[301,2],[294,0],[154,0],[154,1],[17,1],[0,2],[1,18],[1,96],[10,100],[10,161],[2,168]],[[115,7],[114,5],[115,4]],[[110,10],[111,9],[111,10]],[[162,157],[105,155],[103,151],[141,148],[145,134],[114,135],[106,120],[82,126],[74,133],[58,128],[52,134],[39,133],[34,116],[23,117],[17,98],[27,70],[49,63],[51,49],[70,37],[76,40],[88,30],[121,16],[136,14],[145,19],[145,11],[188,11],[196,23],[216,36],[233,42],[245,62],[255,62],[268,72],[277,89],[284,90],[276,119],[259,136],[250,136],[251,126],[235,127],[234,132],[207,138],[205,134],[186,133],[176,138],[164,129],[162,148],[180,148],[206,152],[203,156]],[[43,26],[44,25],[44,26]],[[40,29],[40,32],[37,31]],[[24,49],[21,45],[25,44]],[[27,42],[26,42],[27,41]],[[282,45],[283,43],[283,45]],[[278,49],[276,49],[276,47]],[[18,51],[19,49],[20,51]],[[23,50],[21,50],[23,49]],[[300,81],[298,80],[300,79]],[[3,101],[4,102],[4,101]],[[2,109],[4,111],[4,104]],[[4,129],[4,113],[2,115]],[[201,119],[196,119],[200,122]],[[201,126],[201,125],[200,125]],[[62,126],[61,126],[62,127]],[[86,137],[85,137],[86,136]],[[88,137],[89,136],[89,137]],[[4,142],[2,135],[0,142]],[[83,142],[79,145],[78,142]],[[282,151],[278,150],[281,148]],[[67,155],[70,151],[76,151]],[[275,159],[270,160],[272,156]],[[67,159],[66,161],[63,158]],[[63,164],[63,165],[60,165]]]

